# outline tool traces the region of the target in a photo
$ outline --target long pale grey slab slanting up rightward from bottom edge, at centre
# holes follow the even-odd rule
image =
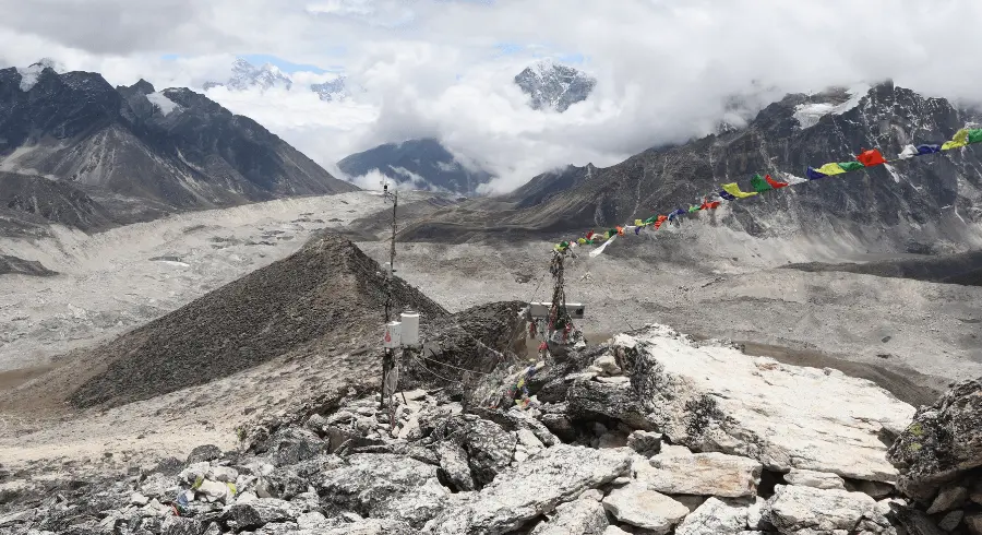
[[[438,535],[508,533],[627,473],[630,462],[626,449],[556,444],[502,472],[480,491],[454,495],[458,501],[447,504],[429,527]]]

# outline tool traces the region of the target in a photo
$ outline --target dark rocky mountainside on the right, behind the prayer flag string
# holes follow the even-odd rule
[[[802,106],[814,106],[815,98],[789,95],[744,129],[654,147],[612,167],[571,166],[544,174],[503,198],[442,210],[408,226],[403,236],[417,241],[571,238],[687,209],[720,183],[736,181],[747,190],[756,173],[793,180],[807,166],[848,162],[863,147],[893,157],[908,143],[942,143],[974,119],[945,99],[893,83],[870,88],[853,107],[829,106],[835,111],[806,120]],[[686,217],[682,228],[724,228],[762,238],[822,236],[893,252],[963,250],[980,242],[980,148],[970,146],[800,183]]]

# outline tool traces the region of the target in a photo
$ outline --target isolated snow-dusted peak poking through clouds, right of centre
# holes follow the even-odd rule
[[[572,67],[543,59],[527,67],[515,76],[515,83],[529,97],[532,109],[565,111],[586,100],[597,80]]]

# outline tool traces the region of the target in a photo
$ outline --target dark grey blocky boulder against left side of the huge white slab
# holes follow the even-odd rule
[[[630,383],[577,380],[566,392],[566,414],[573,420],[614,418],[633,429],[655,430],[655,426],[645,416],[647,411]]]

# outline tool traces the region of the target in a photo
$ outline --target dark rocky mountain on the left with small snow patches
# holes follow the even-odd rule
[[[28,82],[0,70],[0,169],[62,180],[104,204],[196,209],[357,189],[190,90],[112,87],[50,68]]]

